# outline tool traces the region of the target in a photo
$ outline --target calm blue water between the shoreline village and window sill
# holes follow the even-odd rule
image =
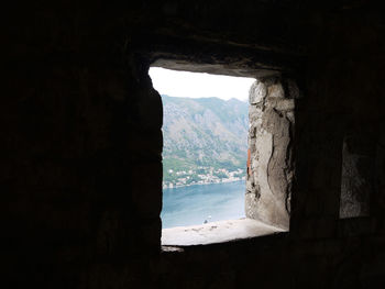
[[[244,218],[244,180],[163,189],[163,229]]]

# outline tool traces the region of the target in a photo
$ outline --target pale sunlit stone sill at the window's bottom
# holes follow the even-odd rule
[[[163,229],[162,245],[207,245],[271,235],[280,232],[287,231],[280,227],[264,224],[257,220],[252,219],[228,220],[201,225]]]

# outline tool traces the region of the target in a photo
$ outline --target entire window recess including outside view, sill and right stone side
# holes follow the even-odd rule
[[[172,67],[175,65],[177,66],[170,63]],[[160,69],[166,74],[161,74],[161,77],[156,75]],[[207,69],[208,67],[202,67],[204,71]],[[248,101],[242,102],[237,99],[215,98],[223,98],[231,89],[234,92],[229,98],[240,96],[240,88],[227,87],[229,80],[220,85],[208,78],[206,84],[191,86],[188,81],[196,74],[188,74],[189,77],[183,80],[176,77],[175,71],[150,69],[153,86],[162,95],[164,105],[162,244],[210,244],[288,231],[295,174],[292,157],[295,101],[300,97],[296,82],[278,74],[258,79],[249,78],[245,92],[241,97],[241,100]],[[180,95],[164,90],[162,86],[167,81],[173,91],[179,89],[180,95],[190,93],[191,98],[170,97]],[[194,92],[195,88],[201,88],[200,92]],[[226,88],[224,91],[220,91],[222,88]],[[238,108],[237,113],[227,111],[226,105]],[[243,112],[240,113],[241,111]],[[240,121],[240,115],[243,121]],[[197,129],[198,124],[207,123],[208,120],[210,125]],[[231,124],[234,120],[243,123],[243,129]],[[174,129],[169,130],[170,126]],[[170,133],[173,131],[177,133]],[[240,131],[243,131],[243,135],[237,136]],[[186,134],[193,137],[187,137]],[[241,140],[243,143],[239,143]],[[231,145],[230,141],[238,144]],[[237,149],[240,155],[234,154]],[[173,157],[169,155],[172,151]],[[187,164],[182,164],[180,159],[185,156],[190,159]],[[218,162],[218,156],[226,156],[227,160],[220,158],[221,162]],[[231,164],[230,160],[238,160],[238,164]],[[217,166],[223,165],[223,162],[227,166],[231,165],[231,169]],[[235,188],[239,194],[233,200],[237,200],[237,204],[226,199],[227,194],[231,194],[229,186],[237,186],[229,180],[235,178],[241,179],[239,186],[242,186],[240,190]],[[215,194],[205,193],[210,186],[218,188],[217,197],[223,198],[217,199],[219,203],[228,202],[222,205],[224,210],[221,213],[212,208],[211,211],[205,211],[216,199]],[[221,186],[228,187],[220,188]],[[178,190],[194,198],[182,201],[184,198],[177,193]],[[184,203],[193,210],[188,211],[183,207],[180,209],[179,205]]]

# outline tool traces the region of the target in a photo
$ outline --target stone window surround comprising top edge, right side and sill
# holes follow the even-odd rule
[[[267,73],[267,76],[265,76],[264,74],[261,75],[256,73],[252,75],[248,71],[245,75],[242,75],[239,70],[234,70],[233,68],[228,69],[210,65],[191,66],[191,64],[186,65],[186,63],[183,62],[177,64],[174,60],[164,59],[153,63],[151,67],[253,77],[256,81],[250,88],[249,115],[253,115],[255,110],[262,112],[261,118],[256,118],[256,123],[251,124],[249,130],[248,142],[251,151],[251,170],[248,171],[246,176],[246,219],[163,229],[162,245],[208,245],[287,232],[289,230],[292,184],[294,176],[292,143],[295,125],[295,99],[299,98],[299,90],[296,82],[282,77],[278,73]],[[279,125],[277,125],[277,130],[275,130],[275,125],[272,125],[272,118],[280,120],[278,121]],[[283,126],[285,126],[285,129],[283,129]],[[266,151],[264,146],[255,146],[258,142],[254,142],[252,138],[258,133],[263,133],[265,136],[271,135],[271,144],[275,145],[273,149]],[[251,149],[252,145],[254,145],[254,148]],[[261,167],[256,166],[256,158],[253,155],[255,152],[262,152],[262,154],[268,154],[270,152],[270,159],[274,163],[273,169],[270,169],[267,166],[263,171]],[[282,165],[278,166],[277,164],[279,162],[282,162]],[[262,181],[262,178],[268,179],[268,184],[273,184],[271,186],[274,188],[266,190],[263,186],[257,186],[258,182]],[[272,196],[273,198],[271,198]],[[266,213],[266,210],[263,209],[264,207],[268,207],[272,213]]]

